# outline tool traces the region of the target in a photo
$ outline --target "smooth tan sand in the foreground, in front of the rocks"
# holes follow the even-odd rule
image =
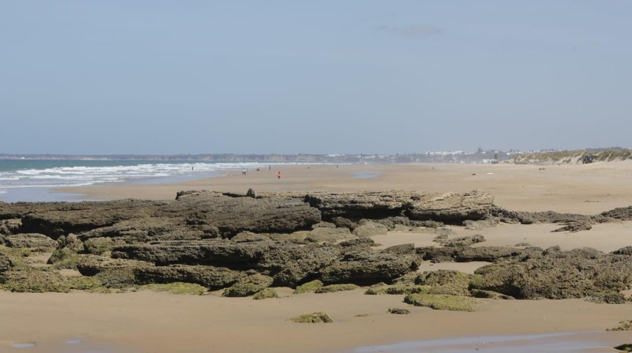
[[[402,296],[365,296],[363,290],[264,301],[153,292],[0,292],[0,314],[11,318],[0,322],[0,341],[7,342],[0,345],[0,352],[13,351],[9,348],[13,342],[35,342],[29,352],[56,353],[38,347],[65,337],[109,345],[112,353],[349,352],[355,347],[437,338],[602,331],[632,317],[631,304],[592,304],[581,299],[486,299],[473,313],[415,307],[410,307],[409,315],[386,312],[406,306],[401,300]],[[313,311],[329,313],[334,323],[286,321]],[[354,316],[360,313],[369,316]],[[632,333],[618,332],[616,340],[629,342]]]

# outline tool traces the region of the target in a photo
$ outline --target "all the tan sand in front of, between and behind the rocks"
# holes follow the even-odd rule
[[[434,169],[433,169],[434,168]],[[272,171],[247,176],[225,175],[173,185],[117,185],[72,188],[88,198],[173,198],[182,189],[244,192],[331,190],[360,191],[420,189],[468,191],[480,188],[495,194],[511,210],[555,210],[599,213],[632,205],[632,164],[628,162],[546,167],[533,165],[312,165],[284,166],[285,179]],[[354,177],[355,172],[379,172],[377,177]],[[471,174],[477,174],[475,176]],[[487,174],[494,173],[494,174]],[[231,174],[231,172],[227,172]],[[236,174],[239,174],[237,171]],[[631,245],[631,222],[595,225],[578,233],[551,233],[556,225],[499,225],[483,230],[451,227],[454,236],[483,234],[481,245],[513,246],[528,242],[546,248],[590,246],[612,251]],[[382,246],[414,242],[433,245],[436,234],[391,232],[375,237]],[[485,263],[424,263],[421,270],[454,268],[473,272]],[[283,291],[282,291],[283,292]],[[604,330],[619,320],[632,319],[632,304],[592,304],[580,299],[562,301],[485,300],[480,311],[461,313],[411,308],[410,315],[386,313],[406,306],[402,296],[365,296],[362,290],[333,294],[298,294],[253,301],[250,298],[175,296],[153,292],[127,294],[13,294],[0,292],[0,352],[9,342],[57,342],[82,336],[93,342],[118,345],[134,352],[344,352],[352,347],[403,340]],[[406,306],[408,307],[408,306]],[[325,311],[332,324],[298,324],[286,319]],[[367,317],[354,317],[368,313]],[[612,335],[610,337],[613,337]],[[621,332],[614,340],[632,341]],[[41,348],[40,348],[41,349]],[[10,350],[9,350],[10,351]],[[50,352],[52,350],[46,350]]]

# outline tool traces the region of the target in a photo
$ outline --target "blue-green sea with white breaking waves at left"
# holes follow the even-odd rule
[[[0,160],[0,201],[78,201],[51,188],[107,183],[164,183],[217,176],[226,169],[267,168],[260,163],[156,160]]]

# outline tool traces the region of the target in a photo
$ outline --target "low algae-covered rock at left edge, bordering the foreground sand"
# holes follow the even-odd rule
[[[34,268],[8,271],[0,275],[0,288],[11,292],[70,292],[71,287],[57,272]]]

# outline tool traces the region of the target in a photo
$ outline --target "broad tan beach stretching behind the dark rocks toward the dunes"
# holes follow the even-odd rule
[[[496,203],[516,211],[552,210],[595,214],[629,206],[632,200],[632,161],[588,165],[556,165],[542,170],[534,165],[511,164],[369,164],[272,165],[272,171],[230,171],[218,176],[164,184],[92,185],[59,188],[56,192],[81,194],[80,198],[117,200],[173,200],[182,190],[208,189],[245,193],[255,191],[382,191],[403,189],[464,193],[483,189]],[[278,180],[274,169],[281,170]],[[354,177],[365,173],[370,177]]]

